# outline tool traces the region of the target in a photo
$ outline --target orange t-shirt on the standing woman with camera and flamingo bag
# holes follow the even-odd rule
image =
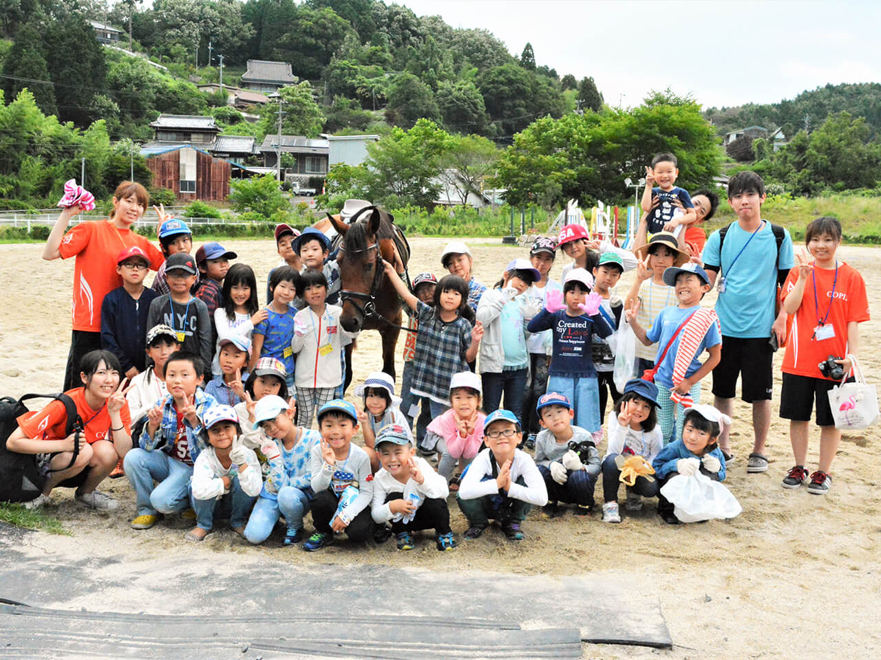
[[[817,303],[814,303],[814,277],[817,278]],[[786,300],[798,281],[798,268],[789,271],[783,283],[781,299]],[[862,323],[869,320],[869,300],[866,297],[866,284],[854,268],[839,262],[838,280],[835,281],[833,297],[833,281],[835,270],[814,268],[813,276],[808,277],[804,284],[802,304],[792,316],[792,329],[783,356],[783,371],[808,376],[825,378],[818,369],[818,363],[829,356],[842,358],[848,354],[848,323]],[[819,310],[817,309],[819,305]],[[817,339],[814,329],[829,311],[825,325],[832,326],[835,336],[829,339]],[[828,378],[825,378],[828,380]]]

